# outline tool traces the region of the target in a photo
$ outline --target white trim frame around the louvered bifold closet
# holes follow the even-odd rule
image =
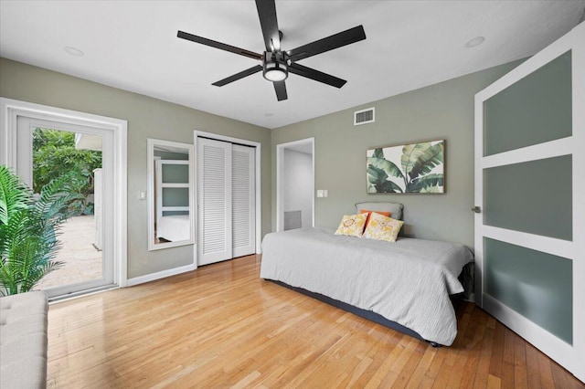
[[[193,144],[195,147],[195,150],[197,152],[197,138],[198,137],[203,137],[203,138],[209,138],[209,139],[214,139],[216,141],[224,141],[224,142],[231,142],[231,143],[239,143],[239,144],[244,144],[246,146],[250,146],[250,147],[255,147],[256,148],[256,160],[255,160],[255,179],[256,179],[256,254],[261,254],[261,241],[262,241],[262,210],[261,210],[261,201],[262,201],[262,194],[261,194],[261,190],[262,190],[262,183],[261,183],[261,143],[260,142],[253,142],[253,141],[248,141],[246,139],[239,139],[239,138],[233,138],[231,136],[226,136],[226,135],[218,135],[217,133],[213,133],[213,132],[207,132],[207,131],[199,131],[199,130],[194,130],[193,131]],[[194,167],[193,171],[196,172],[197,174],[197,156],[196,158],[194,158],[194,161],[196,163],[196,166]],[[198,177],[195,177],[195,181],[194,181],[197,185],[198,182]],[[198,208],[198,199],[197,199],[197,186],[196,186],[196,190],[194,191],[194,194],[196,196],[195,199],[195,219],[196,219],[196,226],[198,226],[198,217],[199,217],[199,210]],[[198,237],[198,231],[196,231],[196,241],[195,241],[195,245],[193,245],[193,257],[194,257],[194,263],[195,263],[195,267],[197,268],[197,237]]]

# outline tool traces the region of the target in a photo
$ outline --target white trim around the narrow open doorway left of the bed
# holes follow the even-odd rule
[[[276,145],[276,231],[284,230],[284,150],[293,146],[310,144],[312,159],[313,188],[311,190],[311,219],[314,226],[314,137]]]

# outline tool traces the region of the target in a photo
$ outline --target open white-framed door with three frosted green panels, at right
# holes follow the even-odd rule
[[[585,383],[585,24],[474,108],[476,302]]]

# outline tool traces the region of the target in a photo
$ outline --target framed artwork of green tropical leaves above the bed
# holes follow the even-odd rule
[[[379,147],[366,152],[368,194],[443,194],[445,141]]]

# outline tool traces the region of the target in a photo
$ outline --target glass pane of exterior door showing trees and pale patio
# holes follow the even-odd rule
[[[34,126],[32,189],[69,177],[72,199],[58,234],[54,260],[60,267],[40,279],[35,289],[64,287],[104,278],[102,137]]]

